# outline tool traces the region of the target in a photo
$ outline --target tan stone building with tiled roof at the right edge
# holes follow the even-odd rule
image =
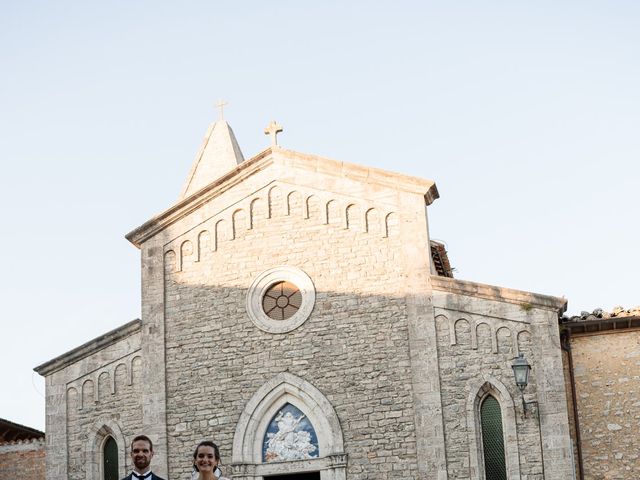
[[[640,478],[640,307],[562,320],[576,476]]]

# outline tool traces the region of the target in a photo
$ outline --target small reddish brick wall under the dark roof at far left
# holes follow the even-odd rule
[[[0,444],[0,480],[44,479],[44,439]]]

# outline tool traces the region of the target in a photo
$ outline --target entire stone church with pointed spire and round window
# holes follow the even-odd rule
[[[127,235],[142,319],[36,368],[47,478],[121,478],[132,438],[259,479],[573,478],[563,299],[452,278],[436,185],[213,123],[178,201]],[[515,383],[522,354],[528,385]]]

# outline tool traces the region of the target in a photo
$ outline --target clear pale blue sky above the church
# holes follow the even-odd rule
[[[124,234],[178,197],[214,104],[284,148],[436,181],[458,278],[640,304],[640,2],[0,2],[0,417],[140,316]]]

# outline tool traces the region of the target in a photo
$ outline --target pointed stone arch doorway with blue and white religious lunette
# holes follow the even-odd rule
[[[239,480],[345,480],[347,455],[329,400],[300,377],[280,373],[247,402],[233,439]]]

